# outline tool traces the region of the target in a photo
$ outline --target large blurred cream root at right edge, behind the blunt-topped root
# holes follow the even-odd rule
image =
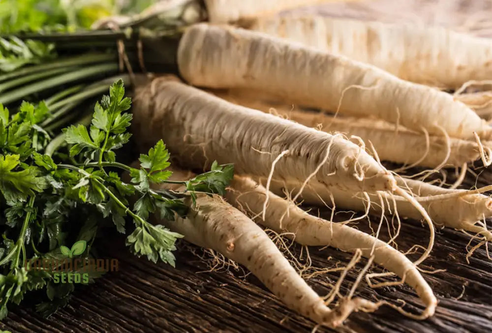
[[[417,83],[457,89],[492,77],[492,39],[441,27],[293,14],[259,18],[250,29],[367,62]]]

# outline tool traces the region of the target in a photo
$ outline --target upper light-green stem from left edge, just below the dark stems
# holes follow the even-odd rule
[[[115,56],[112,54],[85,54],[77,57],[71,57],[67,59],[57,59],[53,62],[42,63],[40,65],[24,67],[18,70],[15,70],[11,73],[6,73],[0,75],[0,82],[9,80],[11,78],[18,78],[23,75],[33,74],[36,72],[41,72],[45,70],[52,70],[60,67],[69,67],[69,66],[78,66],[78,65],[86,65],[89,63],[95,62],[103,62],[103,61],[111,61],[114,60]]]

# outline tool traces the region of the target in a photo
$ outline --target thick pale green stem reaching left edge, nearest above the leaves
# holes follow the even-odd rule
[[[46,89],[60,86],[65,83],[85,79],[95,75],[101,75],[101,73],[109,74],[117,71],[117,63],[103,63],[87,68],[82,68],[71,73],[62,74],[60,76],[45,80],[43,82],[36,82],[15,91],[9,91],[8,93],[0,95],[0,103],[8,104],[20,98],[24,98],[25,96],[30,95],[34,92],[44,91]]]

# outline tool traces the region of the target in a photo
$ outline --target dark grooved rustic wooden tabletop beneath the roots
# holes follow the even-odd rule
[[[307,9],[307,10],[313,10]],[[378,19],[386,22],[426,22],[477,35],[489,35],[492,28],[492,1],[476,0],[373,0],[337,3],[317,8],[326,15]],[[482,184],[492,182],[491,171],[480,176]],[[469,179],[467,187],[474,184]],[[317,213],[316,210],[312,211]],[[328,210],[321,215],[328,216]],[[337,215],[342,219],[344,214]],[[346,215],[345,215],[346,216]],[[377,223],[377,218],[372,218]],[[490,225],[490,221],[489,221]],[[370,231],[367,224],[358,228]],[[404,220],[398,239],[404,251],[413,244],[426,245],[429,231],[417,221]],[[383,236],[384,238],[384,236]],[[387,239],[387,237],[386,237]],[[436,315],[414,321],[397,311],[382,307],[375,313],[354,313],[339,329],[341,332],[492,332],[492,264],[484,248],[475,252],[470,264],[465,260],[469,236],[444,229],[437,231],[431,258],[422,268],[446,269],[424,274],[439,300]],[[120,271],[106,274],[90,287],[75,292],[69,305],[48,319],[24,304],[11,307],[0,329],[12,332],[310,332],[312,322],[282,305],[254,276],[242,271],[207,271],[207,264],[195,254],[200,249],[184,246],[177,252],[176,269],[152,264],[129,254],[123,238],[112,238],[104,257],[120,260]],[[292,249],[299,256],[300,247]],[[304,252],[305,253],[305,252]],[[351,256],[333,248],[309,249],[312,265],[330,267],[347,263]],[[418,256],[418,254],[417,254]],[[303,258],[306,258],[304,254]],[[416,258],[411,255],[410,258]],[[364,265],[364,262],[361,263]],[[361,266],[358,267],[359,269]],[[374,269],[378,272],[378,269]],[[342,293],[350,288],[357,270],[346,278]],[[308,281],[320,294],[328,292],[326,283],[337,273],[327,273]],[[361,296],[397,303],[404,299],[406,309],[422,309],[410,288],[401,285],[370,289],[363,283]],[[329,332],[326,328],[318,332]]]

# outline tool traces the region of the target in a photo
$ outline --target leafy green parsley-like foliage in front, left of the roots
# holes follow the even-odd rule
[[[125,113],[131,101],[124,93],[123,81],[115,82],[109,96],[95,105],[89,128],[79,124],[63,130],[68,153],[59,149],[52,155],[44,153],[52,135],[39,125],[51,117],[45,103],[24,102],[13,115],[0,105],[0,207],[8,207],[0,213],[0,319],[8,302],[19,303],[30,290],[46,288],[50,302],[37,307],[45,315],[66,304],[73,284],[56,284],[54,272],[26,270],[26,263],[90,256],[97,232],[113,224],[125,233],[126,218],[134,226],[126,238],[131,251],[174,266],[172,251],[182,236],[149,223],[149,214],[173,220],[175,214],[187,213],[185,196],[224,193],[233,166],[216,163],[210,172],[184,182],[184,193],[152,190],[150,184],[168,182],[171,176],[162,140],[140,155],[138,169],[117,162],[115,151],[131,135],[132,117]],[[123,182],[117,170],[128,172],[131,181]],[[130,196],[137,198],[133,207]],[[66,244],[72,243],[78,245],[69,249]]]

